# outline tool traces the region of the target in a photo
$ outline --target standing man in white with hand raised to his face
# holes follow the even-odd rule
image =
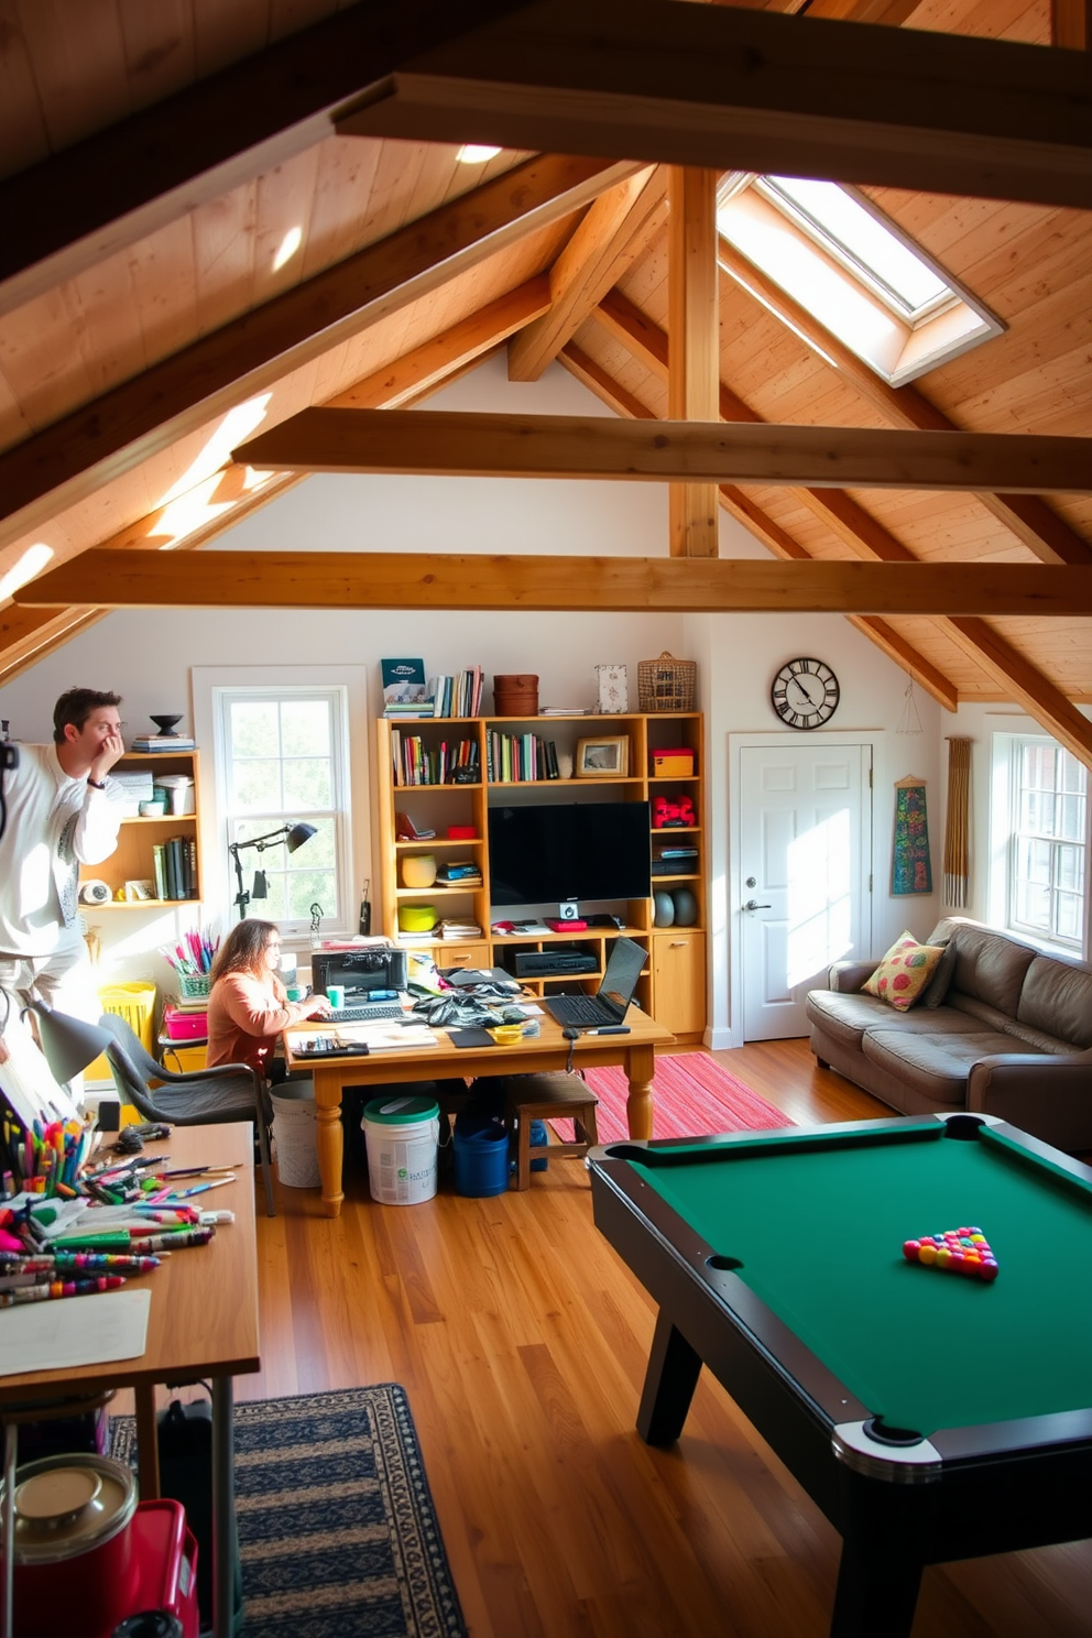
[[[0,988],[38,994],[59,1012],[98,1022],[92,966],[77,925],[80,865],[118,845],[124,755],[118,695],[70,688],[52,713],[52,745],[20,745],[5,775],[0,837]]]

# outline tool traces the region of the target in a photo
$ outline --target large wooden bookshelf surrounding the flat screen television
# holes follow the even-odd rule
[[[512,768],[498,767],[496,737],[519,740],[527,735],[553,744],[558,758],[576,758],[581,739],[624,737],[627,740],[627,770],[624,776],[571,778],[522,778],[511,776]],[[419,755],[406,758],[416,768],[450,773],[450,747],[453,744],[476,745],[478,778],[467,783],[449,776],[442,783],[396,783],[395,752],[414,739]],[[442,747],[447,747],[444,757]],[[657,771],[657,752],[686,747],[693,752],[693,773]],[[463,752],[465,753],[465,752]],[[611,940],[619,930],[642,943],[648,952],[648,966],[637,991],[639,1004],[657,1022],[665,1024],[683,1040],[699,1040],[706,1027],[706,945],[707,945],[707,893],[706,893],[706,842],[704,842],[704,719],[699,713],[663,713],[624,716],[535,716],[535,717],[421,717],[380,719],[378,722],[378,790],[380,790],[380,852],[381,852],[381,904],[383,932],[403,948],[427,952],[437,966],[508,966],[521,950],[548,950],[555,945],[573,947],[594,957],[594,971],[522,980],[535,994],[548,994],[552,988],[580,983],[594,991],[602,978],[611,953]],[[499,776],[498,776],[499,775]],[[666,847],[694,847],[694,860],[679,865],[670,875],[653,875],[655,893],[686,889],[694,898],[696,917],[688,925],[657,927],[655,898],[625,903],[589,903],[591,912],[611,912],[622,919],[622,929],[588,927],[578,932],[545,932],[537,935],[498,934],[493,922],[504,914],[529,919],[530,907],[521,912],[504,911],[493,904],[490,893],[490,842],[488,812],[491,803],[511,799],[512,793],[526,793],[522,799],[580,801],[593,791],[611,791],[616,801],[647,801],[652,808],[657,796],[670,803],[689,798],[693,822],[686,826],[650,827],[653,862]],[[406,814],[417,830],[434,830],[421,840],[399,840],[396,816]],[[473,839],[449,839],[449,826],[473,827]],[[437,867],[445,860],[473,860],[481,871],[481,883],[473,886],[413,888],[404,883],[403,863],[408,857],[432,853]],[[398,911],[404,904],[432,904],[439,919],[473,917],[481,929],[480,939],[449,940],[435,932],[406,934],[399,929]],[[544,916],[557,916],[557,906],[544,906]]]

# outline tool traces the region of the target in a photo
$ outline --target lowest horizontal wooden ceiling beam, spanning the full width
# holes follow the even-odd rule
[[[578,568],[576,568],[578,565]],[[90,550],[15,593],[26,608],[616,609],[675,614],[1092,614],[1092,567],[771,563],[468,552]]]

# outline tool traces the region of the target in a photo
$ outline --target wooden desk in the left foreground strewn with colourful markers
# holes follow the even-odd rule
[[[254,1228],[254,1129],[232,1125],[174,1127],[170,1138],[149,1143],[147,1155],[170,1155],[170,1166],[231,1166],[237,1183],[193,1197],[208,1210],[231,1210],[205,1247],[188,1247],[165,1258],[151,1274],[129,1276],[126,1291],[147,1284],[152,1302],[144,1353],[106,1364],[65,1366],[0,1376],[0,1419],[31,1402],[69,1396],[93,1396],[113,1387],[133,1387],[141,1495],[159,1494],[156,1440],[156,1384],[211,1378],[213,1381],[213,1528],[214,1528],[214,1633],[231,1638],[234,1600],[234,1463],[232,1378],[260,1369],[257,1317],[257,1240]],[[200,1183],[200,1178],[190,1179]],[[187,1183],[178,1179],[178,1188]],[[62,1297],[62,1302],[95,1302],[95,1297]],[[7,1423],[8,1438],[15,1423]],[[13,1450],[13,1446],[11,1446]]]

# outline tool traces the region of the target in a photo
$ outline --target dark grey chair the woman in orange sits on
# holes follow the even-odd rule
[[[273,1176],[268,1165],[273,1106],[259,1071],[249,1063],[221,1063],[214,1070],[187,1073],[165,1070],[123,1017],[103,1012],[98,1022],[113,1035],[106,1058],[121,1101],[139,1109],[146,1120],[164,1120],[169,1125],[224,1125],[229,1120],[254,1120],[262,1156],[265,1210],[275,1217]],[[152,1091],[149,1081],[164,1084]]]

